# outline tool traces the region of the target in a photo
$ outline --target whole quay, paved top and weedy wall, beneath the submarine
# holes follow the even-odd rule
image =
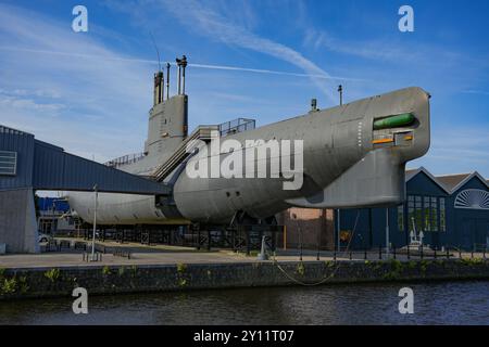
[[[134,246],[134,248],[131,248]],[[489,260],[389,259],[378,254],[305,253],[296,250],[265,261],[233,252],[202,252],[185,247],[125,244],[131,257],[102,255],[97,262],[83,261],[80,250],[0,257],[0,300],[71,296],[85,287],[90,295],[165,291],[220,290],[254,286],[328,285],[335,283],[489,280]]]

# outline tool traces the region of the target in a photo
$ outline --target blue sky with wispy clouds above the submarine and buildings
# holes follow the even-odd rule
[[[88,33],[72,30],[76,4]],[[414,33],[398,29],[403,4]],[[311,98],[329,107],[339,83],[346,102],[418,86],[432,95],[432,141],[409,166],[489,177],[488,13],[482,0],[0,0],[0,124],[100,162],[142,151],[152,34],[162,61],[196,64],[190,128],[273,123]]]

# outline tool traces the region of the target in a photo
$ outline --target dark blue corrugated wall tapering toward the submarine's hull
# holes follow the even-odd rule
[[[33,134],[0,126],[0,151],[17,152],[15,176],[0,176],[0,190],[35,190],[165,194],[162,183],[65,153],[63,149],[34,139]]]

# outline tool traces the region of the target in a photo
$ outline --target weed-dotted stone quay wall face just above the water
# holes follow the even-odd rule
[[[0,299],[301,284],[489,280],[489,260],[283,261],[0,269]]]

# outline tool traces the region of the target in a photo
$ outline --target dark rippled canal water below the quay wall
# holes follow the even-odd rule
[[[401,287],[414,313],[401,314]],[[0,301],[0,324],[489,324],[489,282],[389,283]]]

